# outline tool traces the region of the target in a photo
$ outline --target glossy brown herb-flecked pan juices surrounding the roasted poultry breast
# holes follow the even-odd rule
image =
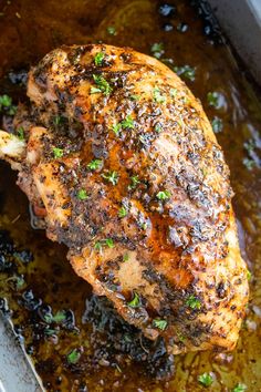
[[[31,228],[28,200],[15,186],[15,173],[1,163],[0,239],[6,245],[0,250],[6,258],[0,259],[0,297],[8,299],[15,330],[24,337],[48,391],[200,391],[198,375],[203,372],[213,373],[209,391],[231,391],[239,382],[253,392],[261,391],[261,104],[229,47],[218,43],[220,39],[212,34],[208,21],[197,16],[197,7],[188,1],[169,4],[174,9],[165,7],[160,13],[159,2],[154,0],[0,0],[0,95],[7,93],[15,103],[23,100],[20,71],[62,43],[103,41],[150,54],[153,48],[161,60],[169,59],[170,66],[179,66],[178,72],[201,100],[210,121],[216,120],[217,128],[222,124],[217,137],[231,169],[242,255],[252,272],[248,317],[232,353],[179,355],[175,358],[174,375],[159,380],[169,374],[168,367],[157,363],[154,371],[150,368],[156,367],[155,361],[150,368],[140,358],[135,362],[130,357],[137,359],[139,352],[121,354],[114,347],[117,341],[96,330],[107,319],[101,314],[104,308],[100,312],[95,308],[95,299],[90,305],[93,312],[88,321],[83,322],[85,301],[92,296],[90,286],[72,272],[64,247]],[[112,27],[115,32],[108,29]],[[216,100],[209,92],[218,92]],[[2,230],[9,231],[11,239]],[[24,249],[29,252],[22,252]],[[50,322],[46,314],[52,310],[55,316],[63,309],[65,320]],[[95,314],[101,322],[92,322]],[[129,331],[125,332],[124,339],[132,339]],[[76,357],[67,355],[74,349],[76,357],[81,355],[72,364],[70,358],[72,361]],[[144,349],[140,357],[146,357]]]

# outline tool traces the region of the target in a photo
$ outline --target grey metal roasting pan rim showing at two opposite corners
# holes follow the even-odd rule
[[[261,0],[209,0],[209,3],[233,50],[244,63],[248,76],[251,74],[250,79],[261,86]],[[8,312],[0,312],[0,391],[43,390],[41,379],[13,332]],[[179,392],[178,386],[175,391]],[[261,391],[261,385],[254,385],[252,391]]]

